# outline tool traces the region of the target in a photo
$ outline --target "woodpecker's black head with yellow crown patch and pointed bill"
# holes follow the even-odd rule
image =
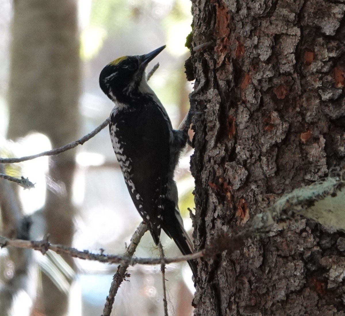
[[[131,104],[147,92],[146,66],[164,48],[165,45],[145,55],[123,56],[110,62],[99,75],[102,91],[113,102]]]

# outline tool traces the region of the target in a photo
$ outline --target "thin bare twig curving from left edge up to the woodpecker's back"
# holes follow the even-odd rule
[[[78,145],[83,145],[87,140],[89,140],[90,138],[95,136],[97,133],[99,133],[103,128],[105,128],[109,124],[109,120],[110,119],[107,118],[101,125],[96,127],[91,133],[81,137],[80,139],[76,141],[72,141],[72,143],[69,143],[65,146],[48,150],[48,151],[43,151],[43,152],[40,152],[39,154],[31,155],[31,156],[25,156],[25,157],[20,157],[20,158],[0,158],[0,164],[13,164],[15,162],[27,161],[27,160],[31,160],[38,157],[53,156],[53,155],[60,154],[63,151],[75,148]]]

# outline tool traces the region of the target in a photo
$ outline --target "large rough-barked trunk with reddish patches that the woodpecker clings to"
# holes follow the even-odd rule
[[[345,5],[193,0],[196,249],[345,162]],[[192,74],[193,72],[193,74]],[[199,262],[195,315],[344,315],[343,232],[309,220]],[[333,271],[334,272],[334,271]]]

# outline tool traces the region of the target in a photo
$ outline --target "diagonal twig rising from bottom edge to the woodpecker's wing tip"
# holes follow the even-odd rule
[[[127,258],[131,258],[134,255],[135,250],[137,249],[137,245],[140,242],[140,239],[142,236],[144,236],[145,232],[147,231],[147,225],[144,222],[141,222],[138,226],[137,230],[133,234],[130,244],[125,252],[125,256]],[[128,262],[124,264],[120,264],[117,268],[117,271],[112,279],[111,286],[109,289],[109,295],[107,296],[106,303],[104,305],[103,309],[103,315],[102,316],[109,316],[111,313],[112,305],[114,304],[114,299],[116,296],[116,293],[122,283],[122,281],[125,280],[126,274],[128,268]]]

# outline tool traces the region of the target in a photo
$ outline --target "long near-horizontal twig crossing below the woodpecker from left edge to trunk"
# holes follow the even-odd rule
[[[161,264],[161,258],[131,258],[126,255],[105,255],[103,253],[96,254],[91,253],[88,250],[80,251],[73,247],[68,247],[64,245],[51,244],[47,239],[39,241],[28,241],[22,239],[9,239],[3,236],[0,236],[0,247],[13,246],[17,248],[29,248],[34,250],[39,250],[42,254],[45,254],[49,249],[55,251],[58,254],[66,254],[74,258],[99,261],[103,263],[120,263],[120,264],[145,264],[145,265],[154,265]],[[173,262],[182,262],[187,260],[194,260],[205,256],[206,251],[202,250],[193,254],[177,256],[172,258],[164,258],[166,264]]]

